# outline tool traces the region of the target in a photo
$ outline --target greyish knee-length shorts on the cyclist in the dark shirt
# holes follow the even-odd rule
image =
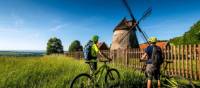
[[[148,80],[160,80],[160,67],[156,67],[153,64],[147,64],[146,66],[146,75]]]

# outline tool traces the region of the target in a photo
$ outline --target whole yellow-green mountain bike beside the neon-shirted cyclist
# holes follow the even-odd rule
[[[71,82],[70,88],[98,88],[100,85],[100,78],[105,73],[105,86],[117,87],[120,84],[120,74],[117,69],[111,68],[107,65],[111,60],[100,61],[104,64],[91,74],[81,73],[77,75]],[[92,61],[86,61],[85,63],[93,63]],[[91,66],[90,66],[91,68]],[[97,78],[96,78],[97,77]]]

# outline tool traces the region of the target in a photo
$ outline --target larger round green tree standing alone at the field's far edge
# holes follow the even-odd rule
[[[47,43],[47,55],[64,53],[62,42],[60,39],[53,37]]]

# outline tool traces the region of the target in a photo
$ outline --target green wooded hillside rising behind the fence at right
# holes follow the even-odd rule
[[[172,45],[200,44],[200,21],[195,23],[183,36],[170,39]]]

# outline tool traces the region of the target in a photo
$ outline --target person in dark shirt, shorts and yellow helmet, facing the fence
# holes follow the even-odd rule
[[[158,81],[158,88],[160,88],[160,65],[153,64],[153,48],[156,47],[156,50],[160,56],[162,56],[162,51],[159,46],[156,46],[157,38],[151,37],[149,38],[150,45],[145,49],[145,54],[142,56],[141,59],[147,58],[146,61],[146,74],[148,77],[147,81],[147,88],[151,88],[152,79],[155,78],[155,80]],[[159,60],[159,59],[158,59]],[[160,59],[161,60],[161,59]]]

